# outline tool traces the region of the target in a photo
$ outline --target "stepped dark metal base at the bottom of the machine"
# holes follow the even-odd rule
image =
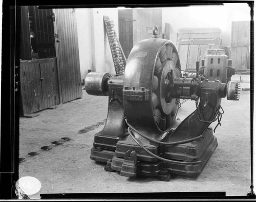
[[[124,158],[120,158],[115,155],[115,151],[93,147],[90,158],[94,161],[108,162],[109,169],[119,171],[123,176],[158,176],[159,179],[167,181],[169,174],[198,176],[217,146],[217,138],[213,135],[212,128],[209,127],[203,132],[201,139],[180,145],[160,146],[160,150],[163,151],[160,156],[175,161],[174,163],[159,160],[146,162],[143,159],[138,161],[138,153],[133,149],[127,150]],[[187,162],[187,164],[184,165],[183,162]],[[193,162],[198,163],[193,164]],[[108,171],[108,169],[105,170]]]

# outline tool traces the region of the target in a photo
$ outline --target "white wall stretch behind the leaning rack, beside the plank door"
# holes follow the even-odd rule
[[[86,77],[88,70],[115,74],[103,15],[114,20],[118,36],[117,8],[76,9],[81,79]]]

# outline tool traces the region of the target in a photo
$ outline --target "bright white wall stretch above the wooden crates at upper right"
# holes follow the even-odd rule
[[[232,21],[250,20],[250,8],[246,3],[162,9],[163,32],[165,23],[170,24],[174,33],[180,28],[220,28],[222,47],[231,45]]]

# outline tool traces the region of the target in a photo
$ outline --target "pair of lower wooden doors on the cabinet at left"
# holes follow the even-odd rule
[[[20,114],[59,104],[56,58],[20,61]]]

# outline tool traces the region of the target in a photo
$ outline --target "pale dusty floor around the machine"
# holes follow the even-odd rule
[[[249,81],[249,75],[234,75],[232,80]],[[241,88],[250,87],[247,82]],[[182,102],[183,100],[181,100]],[[40,193],[138,193],[138,192],[206,192],[221,191],[227,196],[246,196],[250,192],[250,91],[242,91],[239,101],[222,99],[224,114],[216,129],[218,147],[202,173],[196,178],[172,176],[169,182],[157,177],[136,179],[120,176],[118,172],[104,171],[104,164],[90,160],[94,134],[100,125],[86,133],[84,127],[106,119],[108,97],[90,96],[83,90],[83,98],[56,109],[39,111],[38,117],[19,121],[19,177],[39,179]],[[177,117],[183,120],[194,111],[195,102],[185,102]],[[212,123],[212,127],[216,126]],[[43,151],[63,137],[71,141]],[[28,156],[37,151],[39,155]]]

